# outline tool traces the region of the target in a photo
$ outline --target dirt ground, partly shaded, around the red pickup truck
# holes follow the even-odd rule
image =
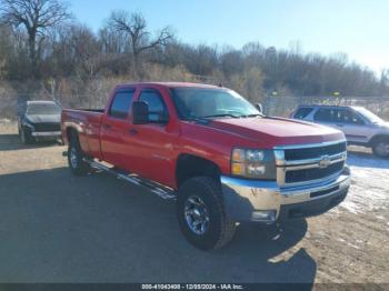
[[[22,146],[13,123],[0,126],[0,282],[389,282],[389,160],[353,149],[340,207],[241,224],[227,248],[202,252],[174,202],[104,173],[74,178],[64,150]]]

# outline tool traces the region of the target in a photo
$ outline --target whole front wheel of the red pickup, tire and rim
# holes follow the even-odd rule
[[[225,212],[220,183],[197,177],[179,188],[177,215],[187,240],[201,250],[226,245],[236,231],[236,222]]]

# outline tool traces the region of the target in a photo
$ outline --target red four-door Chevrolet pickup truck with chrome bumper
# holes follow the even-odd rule
[[[203,250],[228,243],[237,222],[323,213],[350,185],[343,133],[265,117],[216,86],[118,86],[104,110],[63,110],[61,130],[74,174],[97,168],[177,199],[184,237]]]

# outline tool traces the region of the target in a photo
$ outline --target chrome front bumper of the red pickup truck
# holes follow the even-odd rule
[[[273,223],[317,215],[338,205],[350,187],[350,170],[331,180],[281,188],[276,181],[221,177],[227,213],[236,221]]]

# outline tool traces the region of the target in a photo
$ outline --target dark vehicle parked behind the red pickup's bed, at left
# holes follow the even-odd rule
[[[28,101],[18,118],[21,141],[29,144],[61,138],[61,107],[53,101]]]

